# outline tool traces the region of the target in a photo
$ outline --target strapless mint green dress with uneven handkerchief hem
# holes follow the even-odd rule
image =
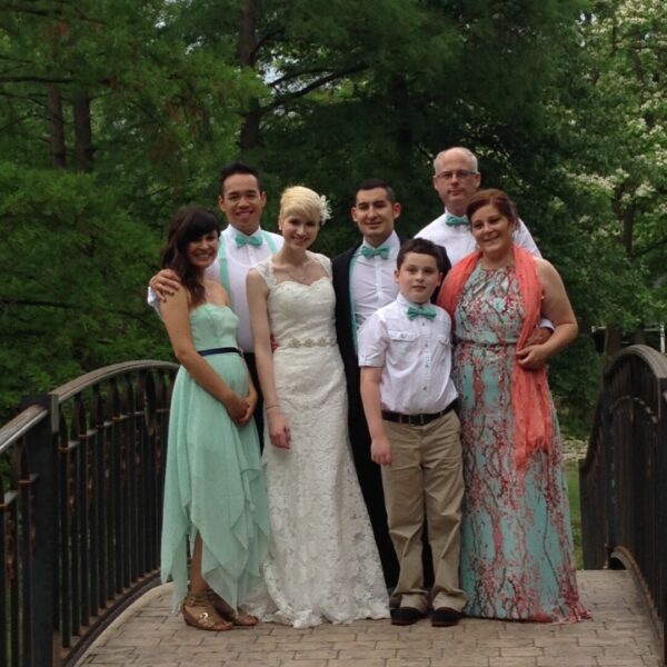
[[[237,347],[238,318],[205,303],[190,312],[197,350]],[[248,394],[242,357],[205,357],[239,396]],[[255,421],[237,426],[225,406],[180,368],[171,396],[162,516],[161,576],[173,579],[173,609],[188,591],[187,546],[201,535],[202,575],[237,608],[261,579],[269,518]]]

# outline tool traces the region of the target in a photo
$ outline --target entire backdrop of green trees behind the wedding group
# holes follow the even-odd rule
[[[168,354],[143,287],[166,221],[218,168],[326,193],[318,249],[357,238],[386,178],[410,235],[462,145],[561,272],[583,339],[551,364],[589,406],[593,325],[667,311],[667,9],[659,0],[36,0],[0,10],[0,410],[110,361]],[[59,132],[61,137],[59,139]]]

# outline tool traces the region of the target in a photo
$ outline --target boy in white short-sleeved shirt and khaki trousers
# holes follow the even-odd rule
[[[466,597],[459,588],[460,505],[464,495],[460,424],[454,406],[451,322],[430,298],[442,280],[441,255],[426,239],[397,257],[396,300],[359,331],[361,399],[381,466],[389,534],[400,565],[394,625],[411,625],[432,606],[431,625],[451,626]],[[434,558],[430,596],[424,588],[424,518]]]

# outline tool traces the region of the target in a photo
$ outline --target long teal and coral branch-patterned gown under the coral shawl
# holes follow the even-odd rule
[[[456,308],[466,494],[461,526],[465,613],[482,618],[575,621],[579,603],[556,414],[550,451],[517,471],[511,370],[524,316],[514,268],[478,263]]]

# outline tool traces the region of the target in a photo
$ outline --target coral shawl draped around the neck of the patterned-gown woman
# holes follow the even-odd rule
[[[465,257],[449,271],[440,289],[438,306],[449,312],[452,322],[456,321],[454,313],[464,287],[480,258],[479,251]],[[542,286],[537,275],[535,258],[530,252],[515,245],[514,261],[519,292],[524,300],[524,323],[517,342],[517,349],[520,350],[539,321]],[[515,359],[510,392],[515,419],[516,465],[517,469],[524,469],[534,451],[548,450],[551,442],[552,407],[546,367],[539,370],[525,370]]]

